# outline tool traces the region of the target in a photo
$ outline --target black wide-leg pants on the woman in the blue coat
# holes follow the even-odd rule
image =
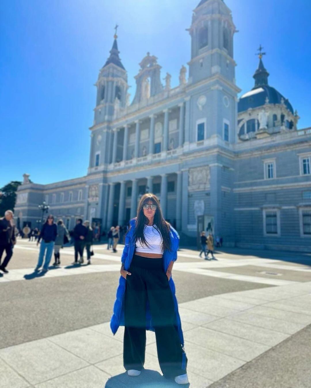
[[[163,375],[185,374],[187,357],[175,327],[174,300],[163,269],[163,258],[134,255],[125,285],[123,365],[141,371],[146,349],[146,303],[155,327],[158,360]],[[184,363],[182,363],[184,359]],[[184,364],[184,365],[182,365]]]

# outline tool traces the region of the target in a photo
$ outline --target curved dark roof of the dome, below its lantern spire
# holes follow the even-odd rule
[[[294,114],[294,109],[290,102],[275,88],[269,85],[262,85],[243,94],[238,102],[238,113],[247,111],[248,108],[263,106],[266,103],[267,97],[269,99],[269,104],[281,104],[281,99],[283,98],[287,109]]]

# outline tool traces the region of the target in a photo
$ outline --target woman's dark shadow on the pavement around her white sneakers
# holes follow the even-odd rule
[[[135,377],[128,376],[126,372],[113,376],[107,381],[105,388],[177,388],[180,386],[175,383],[174,379],[165,379],[159,372],[143,369],[141,374]],[[183,384],[182,386],[189,388],[190,385]]]

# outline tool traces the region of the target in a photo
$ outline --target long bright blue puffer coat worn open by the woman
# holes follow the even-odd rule
[[[123,249],[121,262],[124,264],[124,269],[127,271],[130,268],[130,264],[132,262],[132,258],[135,252],[135,241],[133,242],[133,235],[135,230],[135,222],[136,218],[133,218],[130,220],[130,230],[125,236],[125,247]],[[165,249],[163,252],[163,262],[164,262],[164,271],[166,273],[167,268],[169,267],[169,264],[171,261],[175,262],[177,260],[177,250],[179,247],[179,235],[176,232],[176,230],[171,226],[170,227],[170,239],[171,239],[171,251],[168,249]],[[113,334],[115,334],[119,328],[119,326],[124,326],[124,293],[125,293],[125,283],[126,280],[123,276],[120,276],[119,280],[119,286],[116,290],[116,301],[115,305],[113,306],[113,315],[111,317],[110,321],[110,327]],[[169,281],[170,289],[173,294],[174,299],[174,306],[175,306],[175,324],[177,326],[178,335],[181,341],[182,347],[184,347],[184,336],[182,334],[181,329],[181,320],[178,312],[178,303],[175,296],[175,284],[170,277]],[[152,330],[155,331],[152,323],[151,313],[149,309],[149,305],[147,303],[146,306],[146,330]]]

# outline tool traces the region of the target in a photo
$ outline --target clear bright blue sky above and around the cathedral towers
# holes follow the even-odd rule
[[[158,57],[162,78],[178,83],[190,58],[186,28],[198,0],[2,0],[0,2],[0,187],[24,172],[46,184],[83,176],[89,164],[99,69],[113,43],[128,71],[130,93],[139,62]],[[236,82],[253,87],[259,44],[269,84],[311,126],[311,2],[226,0],[235,35]],[[164,82],[164,81],[163,81]]]

